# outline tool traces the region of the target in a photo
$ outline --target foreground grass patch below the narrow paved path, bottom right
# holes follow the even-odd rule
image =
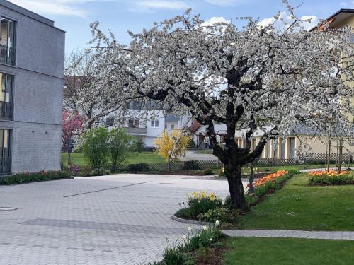
[[[353,264],[354,241],[298,238],[228,238],[224,265]]]

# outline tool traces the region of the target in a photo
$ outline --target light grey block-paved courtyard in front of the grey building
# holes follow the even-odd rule
[[[0,186],[0,264],[143,264],[188,224],[170,219],[185,194],[227,194],[222,180],[111,175]]]

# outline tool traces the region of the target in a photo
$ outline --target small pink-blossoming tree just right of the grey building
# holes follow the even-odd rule
[[[77,113],[62,112],[62,145],[67,151],[67,164],[72,165],[70,153],[72,153],[72,140],[81,133],[84,119]]]

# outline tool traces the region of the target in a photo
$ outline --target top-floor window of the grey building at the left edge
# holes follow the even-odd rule
[[[15,32],[16,22],[1,17],[0,18],[0,60],[7,64],[15,64]]]

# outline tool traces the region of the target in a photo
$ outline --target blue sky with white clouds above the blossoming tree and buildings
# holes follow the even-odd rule
[[[100,22],[101,30],[111,30],[119,42],[128,44],[127,30],[134,33],[151,28],[154,22],[181,15],[187,8],[203,20],[235,20],[252,16],[262,23],[270,21],[278,11],[286,11],[282,0],[9,0],[55,21],[65,30],[67,54],[87,47],[91,40],[90,23]],[[354,0],[289,0],[297,8],[297,16],[328,18],[341,8],[354,8]],[[286,17],[287,14],[285,13]]]

